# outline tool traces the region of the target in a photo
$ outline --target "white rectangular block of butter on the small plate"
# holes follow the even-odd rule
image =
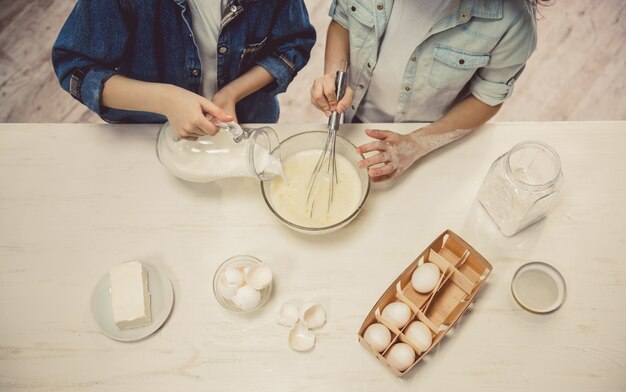
[[[148,272],[138,261],[111,267],[113,321],[120,329],[137,328],[152,322]]]

